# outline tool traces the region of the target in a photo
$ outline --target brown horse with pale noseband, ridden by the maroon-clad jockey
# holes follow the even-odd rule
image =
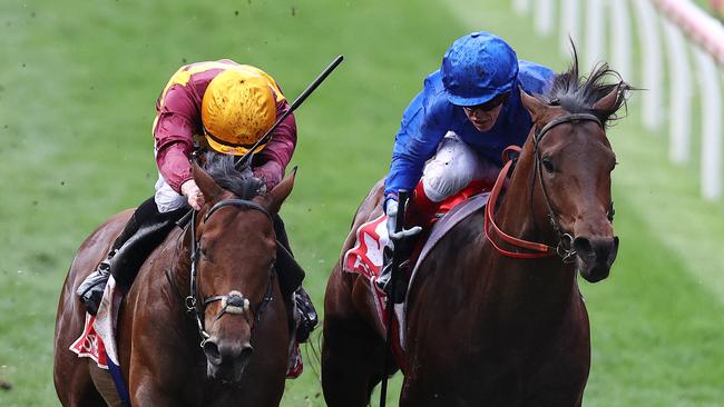
[[[134,406],[277,406],[282,398],[291,332],[275,272],[272,217],[294,177],[260,195],[258,180],[235,177],[231,157],[216,169],[221,176],[212,178],[212,169],[207,173],[194,165],[207,204],[189,227],[176,228],[150,255],[121,305],[118,357]],[[53,371],[63,406],[105,406],[104,398],[119,403],[109,374],[68,347],[85,321],[76,288],[130,215],[116,215],[96,229],[68,272],[58,306]],[[184,299],[189,292],[194,300]]]

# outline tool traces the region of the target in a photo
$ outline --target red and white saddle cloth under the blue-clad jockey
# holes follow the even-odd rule
[[[454,196],[449,197],[443,202],[441,202],[437,209],[434,209],[433,216],[423,216],[420,208],[414,207],[414,198],[411,200],[411,205],[408,208],[407,216],[412,218],[411,225],[420,225],[423,227],[423,232],[421,237],[414,245],[412,256],[410,257],[410,266],[404,268],[404,272],[411,272],[414,269],[414,264],[417,262],[418,256],[420,255],[421,249],[424,247],[427,241],[430,228],[432,225],[440,219],[444,214],[450,211],[450,209],[466,201],[468,198],[478,195],[485,190],[490,189],[490,185],[483,181],[472,181],[463,190],[458,192]],[[421,183],[418,185],[417,189],[421,188]],[[427,210],[427,208],[425,208]],[[356,242],[354,247],[348,250],[344,254],[342,260],[342,269],[346,272],[355,272],[366,277],[370,280],[370,287],[372,297],[374,298],[374,304],[378,310],[378,317],[382,321],[381,326],[387,327],[388,320],[388,309],[387,309],[387,295],[381,290],[376,285],[376,279],[380,276],[382,270],[383,262],[383,250],[388,245],[389,235],[387,228],[387,215],[381,215],[378,218],[374,218],[365,224],[362,224],[356,230]],[[408,225],[405,225],[409,227]],[[409,280],[409,275],[405,280]],[[393,353],[398,361],[398,366],[404,371],[403,365],[403,354],[402,341],[400,340],[400,320],[399,318],[403,317],[401,315],[401,309],[395,308],[393,312]]]

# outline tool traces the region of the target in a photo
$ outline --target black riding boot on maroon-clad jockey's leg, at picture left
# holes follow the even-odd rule
[[[154,197],[144,201],[116,238],[110,252],[98,268],[80,284],[76,294],[90,315],[98,312],[108,278],[112,274],[118,287],[127,291],[146,257],[160,244],[175,221],[188,208],[160,214]]]

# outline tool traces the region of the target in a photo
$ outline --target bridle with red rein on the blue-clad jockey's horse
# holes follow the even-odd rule
[[[522,240],[515,238],[505,231],[502,231],[498,225],[496,225],[495,219],[493,219],[493,210],[496,208],[496,202],[498,200],[498,197],[500,196],[500,191],[502,190],[502,186],[506,181],[506,178],[508,177],[508,173],[510,172],[510,169],[512,168],[513,160],[508,159],[503,168],[500,170],[500,173],[498,175],[498,178],[496,179],[496,183],[492,187],[492,190],[490,192],[490,200],[488,201],[488,205],[486,207],[486,218],[485,218],[485,232],[486,237],[492,244],[492,246],[496,248],[496,250],[507,257],[512,257],[512,258],[522,258],[522,259],[534,259],[534,258],[542,258],[542,257],[552,257],[552,256],[559,256],[564,262],[571,262],[575,257],[576,257],[576,250],[573,248],[573,242],[574,242],[574,237],[570,234],[564,232],[562,228],[560,227],[558,216],[556,214],[556,210],[554,209],[552,205],[550,204],[550,196],[548,193],[548,189],[546,188],[546,183],[542,181],[542,159],[540,157],[540,149],[539,149],[539,143],[540,140],[542,140],[544,137],[550,132],[550,129],[554,127],[561,125],[561,123],[567,123],[567,122],[575,122],[575,121],[594,121],[596,122],[601,129],[604,128],[604,125],[600,122],[600,119],[598,119],[596,116],[590,115],[590,113],[570,113],[566,116],[558,117],[551,121],[549,121],[546,126],[544,126],[540,130],[538,130],[534,135],[534,155],[535,155],[535,168],[534,168],[534,177],[537,177],[540,183],[540,188],[544,193],[544,200],[546,201],[546,207],[548,210],[548,219],[550,221],[550,225],[552,226],[554,230],[558,235],[558,245],[554,246],[548,246],[545,244],[540,242],[535,242],[535,241],[528,241],[528,240]],[[509,147],[503,151],[503,156],[507,156],[509,151],[520,151],[519,147]],[[535,180],[534,180],[535,182]],[[531,196],[532,196],[532,189],[535,188],[535,183],[531,182]],[[609,218],[613,217],[613,209],[612,212],[609,214]],[[492,239],[491,231],[493,231],[500,239],[503,241],[513,245],[518,248],[527,249],[532,252],[521,252],[521,251],[510,251],[510,250],[505,250],[500,246],[498,246],[495,240]]]

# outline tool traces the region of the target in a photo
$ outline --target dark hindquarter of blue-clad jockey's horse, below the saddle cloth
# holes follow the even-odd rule
[[[322,344],[322,388],[327,406],[368,406],[382,377],[384,341],[353,306],[336,269],[327,285]]]

